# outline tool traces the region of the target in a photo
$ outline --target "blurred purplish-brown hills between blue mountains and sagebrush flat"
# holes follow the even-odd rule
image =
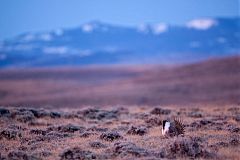
[[[240,104],[240,56],[162,67],[0,70],[0,106]]]

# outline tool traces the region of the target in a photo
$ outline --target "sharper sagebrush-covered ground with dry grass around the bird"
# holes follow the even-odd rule
[[[179,117],[185,135],[161,135]],[[0,107],[0,159],[240,159],[240,106]]]

